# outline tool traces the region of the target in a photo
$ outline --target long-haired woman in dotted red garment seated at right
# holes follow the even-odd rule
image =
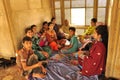
[[[108,43],[107,26],[99,25],[93,33],[95,42],[93,43],[89,55],[84,51],[79,51],[79,64],[82,66],[81,73],[84,76],[100,75],[105,71],[105,61]],[[74,62],[74,61],[73,61]],[[76,61],[75,61],[76,62]]]

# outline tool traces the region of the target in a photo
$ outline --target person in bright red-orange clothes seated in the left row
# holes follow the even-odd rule
[[[48,44],[53,51],[58,51],[59,45],[57,44],[56,32],[53,29],[54,25],[51,22],[49,22],[48,26],[49,26],[49,29],[46,32]]]

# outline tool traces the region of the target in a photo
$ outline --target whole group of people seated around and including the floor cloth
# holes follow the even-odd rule
[[[98,80],[105,71],[108,30],[96,22],[91,19],[79,40],[68,20],[60,27],[52,18],[39,32],[36,25],[26,28],[16,57],[22,75],[28,80]]]

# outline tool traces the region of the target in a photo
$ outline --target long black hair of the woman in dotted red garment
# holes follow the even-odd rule
[[[108,28],[107,25],[99,25],[96,27],[97,34],[101,35],[102,42],[105,45],[106,49],[108,46]]]

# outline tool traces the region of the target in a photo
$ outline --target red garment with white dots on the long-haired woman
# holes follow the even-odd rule
[[[102,42],[95,42],[90,55],[82,62],[82,74],[85,76],[99,75],[105,70],[106,48]],[[79,59],[81,63],[81,60]]]

